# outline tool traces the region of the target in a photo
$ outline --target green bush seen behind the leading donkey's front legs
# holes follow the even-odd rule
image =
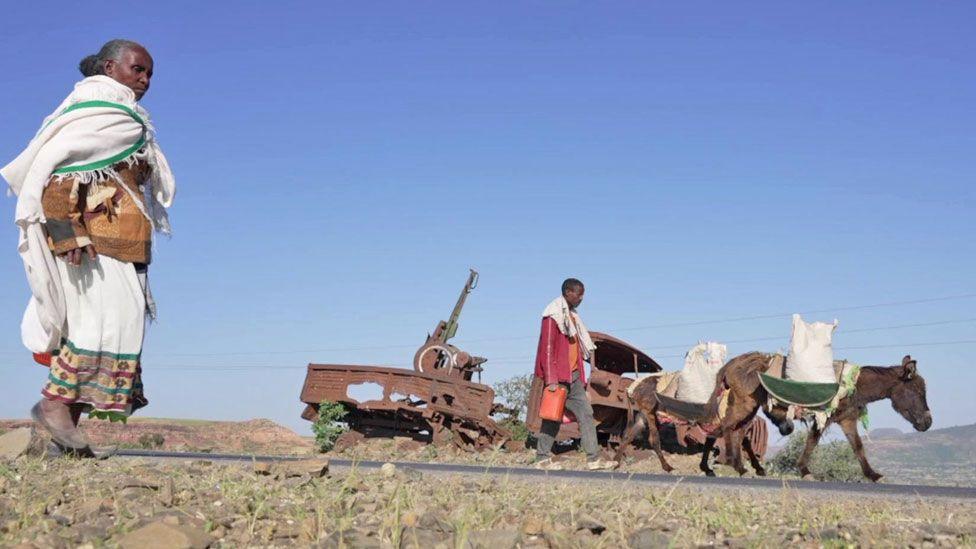
[[[786,442],[786,447],[769,460],[769,472],[775,475],[799,475],[796,462],[800,459],[806,442],[805,429],[794,431]],[[864,478],[857,456],[846,440],[821,442],[810,456],[808,467],[817,480],[853,482]]]

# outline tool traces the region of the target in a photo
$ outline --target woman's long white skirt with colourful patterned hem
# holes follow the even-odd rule
[[[41,394],[124,418],[148,403],[140,367],[146,298],[135,266],[99,255],[77,267],[58,260],[58,271],[67,329]]]

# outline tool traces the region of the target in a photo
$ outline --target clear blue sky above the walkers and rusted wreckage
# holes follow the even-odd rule
[[[838,356],[918,359],[936,427],[976,421],[972,4],[89,2],[51,17],[67,6],[5,8],[0,159],[85,54],[115,37],[150,49],[143,104],[179,192],[151,272],[146,415],[306,432],[306,363],[408,366],[475,267],[455,341],[489,358],[486,381],[531,371],[539,313],[576,276],[591,329],[667,368],[703,338],[785,348],[789,313],[822,311],[808,319],[840,319]],[[0,417],[23,417],[45,371],[19,343],[28,289],[6,227]],[[910,429],[887,404],[871,413]]]

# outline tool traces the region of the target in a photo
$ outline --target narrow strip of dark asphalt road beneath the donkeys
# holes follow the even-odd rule
[[[262,456],[242,454],[210,454],[193,452],[157,452],[152,450],[120,450],[116,455],[127,458],[152,459],[204,459],[223,462],[250,463],[256,461],[295,461],[307,457]],[[379,469],[382,461],[351,461],[329,459],[333,469]],[[527,479],[577,480],[589,482],[627,482],[649,486],[671,487],[680,484],[701,489],[753,489],[753,490],[796,490],[798,492],[837,493],[838,495],[911,497],[911,498],[950,498],[976,500],[976,487],[924,486],[908,484],[872,484],[856,482],[818,482],[805,480],[782,480],[772,478],[736,478],[706,476],[675,476],[650,473],[625,473],[613,471],[540,471],[526,467],[483,466],[456,463],[391,462],[397,467],[406,467],[431,474],[466,474],[510,476]]]

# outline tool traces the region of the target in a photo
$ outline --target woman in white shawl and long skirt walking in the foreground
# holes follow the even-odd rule
[[[147,403],[146,273],[176,183],[138,104],[153,76],[149,52],[112,40],[79,69],[85,78],[0,174],[17,195],[33,294],[21,336],[50,366],[31,416],[62,449],[90,453],[83,412],[123,419]]]

